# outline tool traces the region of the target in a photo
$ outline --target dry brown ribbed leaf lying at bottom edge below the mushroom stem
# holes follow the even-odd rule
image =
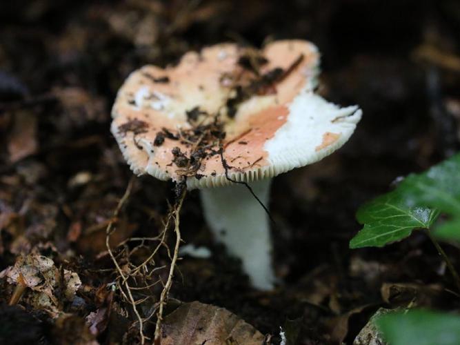
[[[224,308],[186,303],[170,313],[161,328],[161,345],[260,345],[264,336]]]

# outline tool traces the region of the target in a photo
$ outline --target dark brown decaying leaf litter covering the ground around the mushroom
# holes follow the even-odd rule
[[[235,38],[260,46],[270,36],[308,37],[323,55],[319,92],[360,104],[366,117],[337,155],[275,181],[274,265],[284,284],[274,293],[249,287],[239,262],[212,242],[199,199],[190,193],[181,211],[183,241],[210,248],[212,257],[179,261],[165,314],[197,300],[227,308],[273,344],[281,341],[279,326],[292,330],[294,344],[337,344],[351,343],[380,306],[458,308],[452,280],[423,235],[381,250],[348,249],[359,230],[359,205],[387,192],[395,177],[458,150],[459,79],[448,63],[454,59],[447,59],[458,55],[455,1],[394,1],[378,10],[364,1],[37,3],[0,5],[1,268],[30,255],[52,260],[59,316],[34,304],[28,288],[19,306],[1,311],[2,319],[18,320],[4,323],[21,330],[8,333],[18,343],[20,337],[139,342],[137,315],[117,289],[106,229],[116,228],[110,248],[123,274],[139,273],[130,286],[166,284],[175,237],[172,231],[164,242],[158,236],[174,193],[172,186],[136,179],[113,217],[131,175],[108,135],[114,93],[145,63],[165,65],[191,48]],[[408,20],[394,18],[395,11]],[[291,20],[281,23],[281,17]],[[150,268],[136,272],[158,243],[168,246],[162,244],[149,265],[161,269],[150,277]],[[458,267],[458,249],[444,247]],[[67,271],[81,280],[72,301],[63,297]],[[7,303],[16,286],[7,279],[1,284]],[[141,317],[155,314],[161,290],[161,284],[133,290]],[[154,321],[145,324],[147,337]],[[69,329],[81,330],[72,333],[77,339],[69,338]]]

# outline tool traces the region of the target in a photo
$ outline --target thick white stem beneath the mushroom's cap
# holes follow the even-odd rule
[[[271,179],[250,184],[255,195],[268,207]],[[243,184],[201,190],[204,215],[215,239],[239,257],[252,285],[273,288],[270,222],[261,204]]]

